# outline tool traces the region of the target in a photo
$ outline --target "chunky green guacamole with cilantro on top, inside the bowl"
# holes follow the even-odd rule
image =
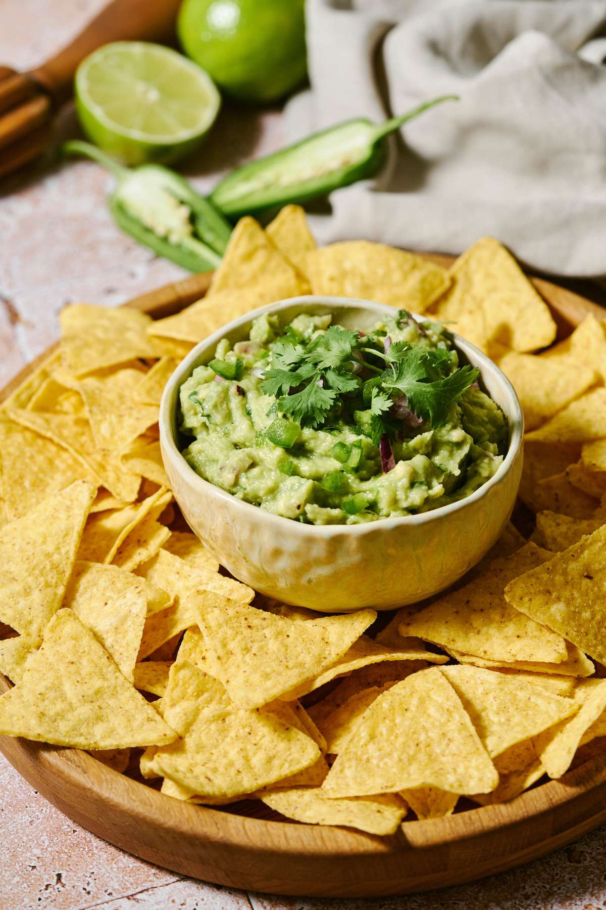
[[[406,310],[363,332],[332,316],[253,320],[180,389],[191,467],[310,524],[359,524],[464,499],[507,449],[502,410],[442,325]]]

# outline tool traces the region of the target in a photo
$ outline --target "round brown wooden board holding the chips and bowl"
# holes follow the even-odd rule
[[[551,307],[559,337],[590,312],[606,317],[590,300],[532,280]],[[202,296],[208,283],[208,275],[193,276],[130,305],[156,318],[169,315]],[[0,676],[0,693],[8,688]],[[181,803],[78,749],[0,736],[0,752],[58,809],[128,853],[217,885],[278,895],[366,897],[456,885],[547,854],[606,820],[604,752],[511,803],[405,822],[386,838]]]

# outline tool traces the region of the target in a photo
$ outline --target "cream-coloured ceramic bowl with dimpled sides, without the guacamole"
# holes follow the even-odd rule
[[[174,497],[222,565],[263,594],[322,612],[389,610],[421,601],[459,579],[492,547],[511,515],[522,473],[520,402],[509,379],[469,342],[454,336],[507,416],[510,445],[494,477],[452,505],[368,524],[316,527],[236,499],[199,477],[177,449],[179,389],[194,367],[212,359],[217,342],[247,338],[252,320],[263,313],[290,320],[305,312],[332,312],[340,325],[365,330],[394,310],[351,298],[291,298],[247,313],[196,345],[168,380],[160,406],[160,442]]]

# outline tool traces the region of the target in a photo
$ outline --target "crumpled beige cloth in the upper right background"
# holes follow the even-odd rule
[[[322,242],[460,253],[490,234],[532,268],[606,274],[604,0],[308,0],[311,90],[289,140],[458,94],[373,181],[313,215]]]

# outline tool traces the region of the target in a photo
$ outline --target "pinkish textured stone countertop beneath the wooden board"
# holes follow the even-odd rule
[[[34,66],[74,35],[102,0],[2,0],[0,61]],[[60,131],[75,135],[68,110]],[[188,176],[200,188],[281,142],[276,111],[226,109]],[[13,177],[0,194],[0,386],[56,338],[65,303],[114,305],[184,277],[114,227],[111,178],[72,161]],[[84,831],[0,755],[2,910],[599,910],[606,908],[606,826],[546,859],[448,891],[376,901],[266,897],[183,878]]]

